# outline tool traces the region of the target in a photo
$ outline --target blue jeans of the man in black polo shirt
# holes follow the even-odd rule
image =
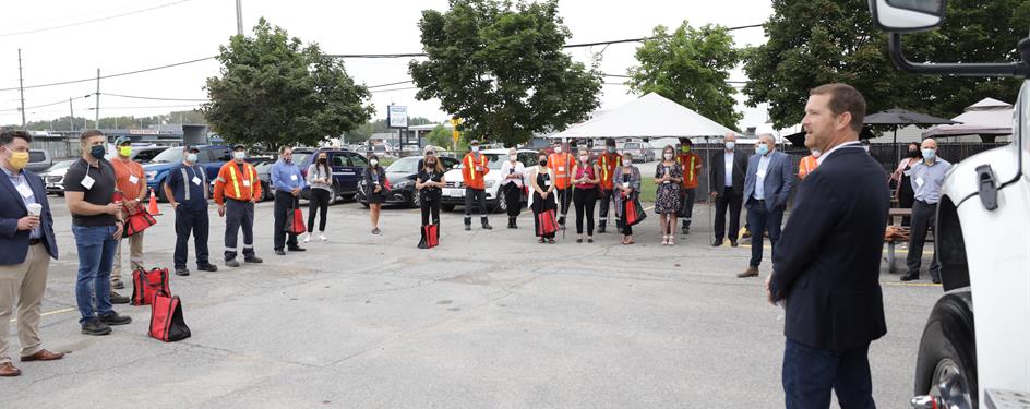
[[[80,324],[97,320],[97,315],[111,313],[111,264],[118,241],[113,239],[115,226],[72,226],[75,246],[79,250],[79,279],[75,282],[75,300],[79,302]]]

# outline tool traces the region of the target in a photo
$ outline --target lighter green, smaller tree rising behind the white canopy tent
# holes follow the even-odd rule
[[[741,52],[723,26],[700,28],[683,22],[671,35],[655,27],[654,39],[636,49],[639,65],[630,69],[630,89],[656,93],[728,128],[744,118],[733,107],[736,89],[727,83]]]

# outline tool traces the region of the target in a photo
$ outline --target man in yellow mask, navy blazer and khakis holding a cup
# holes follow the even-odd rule
[[[50,257],[57,258],[53,217],[43,179],[23,168],[32,136],[0,131],[0,376],[17,376],[8,354],[8,325],[17,299],[22,362],[63,358],[43,349],[39,317]]]

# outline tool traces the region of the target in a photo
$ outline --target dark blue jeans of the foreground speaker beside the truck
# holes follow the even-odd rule
[[[875,409],[869,344],[841,352],[811,348],[787,338],[783,393],[787,409],[827,409],[830,390],[841,409]]]

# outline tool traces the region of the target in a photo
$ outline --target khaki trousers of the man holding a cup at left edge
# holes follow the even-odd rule
[[[50,255],[44,244],[28,246],[25,262],[0,265],[0,364],[11,362],[8,356],[8,326],[17,299],[17,338],[22,357],[39,352],[39,310],[47,290]]]

